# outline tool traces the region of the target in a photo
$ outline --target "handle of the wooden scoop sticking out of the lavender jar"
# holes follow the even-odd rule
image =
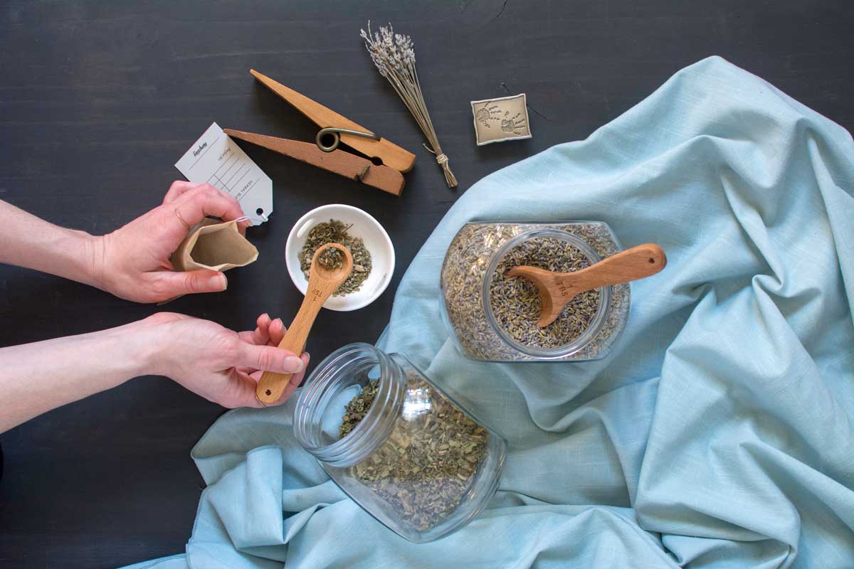
[[[611,255],[587,269],[561,273],[559,280],[571,281],[573,293],[577,294],[655,275],[665,264],[664,250],[654,243],[645,243]]]

